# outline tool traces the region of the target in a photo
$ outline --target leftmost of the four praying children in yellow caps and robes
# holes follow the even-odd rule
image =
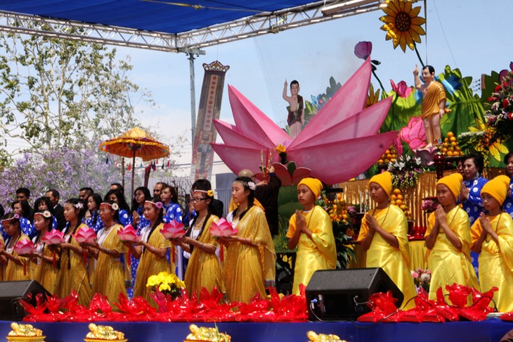
[[[308,285],[316,270],[333,270],[337,266],[337,249],[330,216],[316,199],[323,184],[316,178],[304,178],[297,184],[297,200],[303,210],[290,217],[287,238],[289,248],[297,246],[292,293],[299,295],[299,284]]]

